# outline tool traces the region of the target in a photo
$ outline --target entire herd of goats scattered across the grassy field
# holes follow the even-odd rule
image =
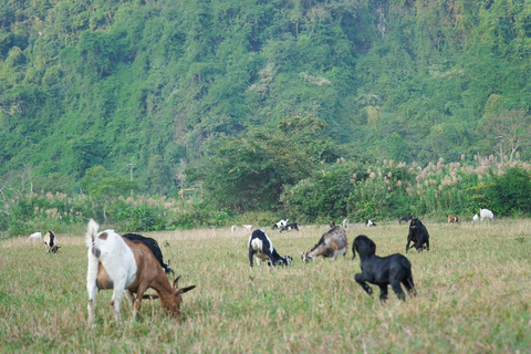
[[[481,209],[479,215],[475,215],[472,221],[483,221],[483,219],[493,219],[492,211]],[[272,226],[272,229],[282,231],[299,230],[298,223],[288,223],[287,220],[280,220]],[[407,236],[406,253],[409,248],[417,251],[429,251],[429,233],[423,222],[412,215],[399,219],[399,222],[409,222],[409,232]],[[450,215],[448,222],[459,222],[459,219]],[[301,260],[308,262],[314,261],[317,257],[332,258],[346,257],[348,220],[344,219],[341,225],[330,223],[331,229],[323,233],[317,243],[310,250],[303,251]],[[372,220],[366,220],[366,227],[375,227]],[[116,320],[121,319],[119,306],[122,298],[125,294],[133,305],[133,315],[136,317],[143,299],[160,299],[160,304],[171,316],[180,316],[181,294],[192,290],[196,285],[179,288],[179,277],[173,283],[168,279],[168,273],[174,273],[171,267],[163,260],[163,252],[158,242],[152,238],[135,233],[118,235],[114,230],[104,230],[98,232],[100,226],[91,219],[88,221],[85,244],[88,249],[88,267],[86,275],[86,290],[88,293],[88,326],[94,325],[94,306],[96,290],[113,290],[111,305],[114,309]],[[247,230],[252,230],[251,225],[246,225]],[[231,228],[235,231],[235,227]],[[46,252],[56,253],[60,246],[52,231],[48,231],[44,237],[41,232],[32,233],[29,241],[37,242],[43,240]],[[413,242],[413,246],[410,243]],[[253,267],[253,260],[260,266],[262,261],[268,262],[270,267],[291,266],[293,258],[290,256],[281,257],[273,242],[262,229],[252,231],[249,242],[249,262]],[[353,259],[356,253],[361,260],[361,273],[356,273],[354,279],[367,294],[373,290],[367,284],[374,284],[379,288],[381,302],[387,300],[388,285],[398,299],[405,300],[406,295],[402,288],[407,290],[409,295],[416,296],[417,292],[413,280],[412,263],[400,254],[395,253],[387,257],[376,256],[376,243],[365,235],[360,235],[352,244]],[[156,291],[156,294],[145,294],[148,289]]]

